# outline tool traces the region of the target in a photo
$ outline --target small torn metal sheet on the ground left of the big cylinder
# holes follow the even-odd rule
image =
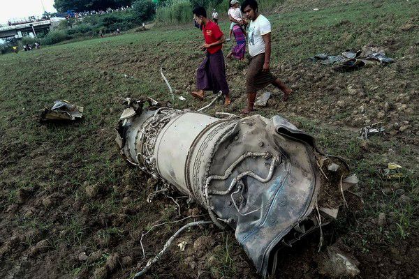
[[[50,109],[45,107],[40,119],[41,121],[75,121],[82,119],[83,111],[83,107],[73,105],[67,100],[56,100]]]

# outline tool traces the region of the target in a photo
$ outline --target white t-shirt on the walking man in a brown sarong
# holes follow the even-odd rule
[[[249,54],[256,56],[265,52],[265,42],[262,36],[271,32],[269,20],[263,15],[258,15],[249,26]]]

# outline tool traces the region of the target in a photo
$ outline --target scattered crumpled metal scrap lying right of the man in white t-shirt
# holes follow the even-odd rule
[[[365,46],[358,52],[347,50],[336,56],[325,53],[316,54],[311,60],[321,61],[323,65],[334,65],[336,70],[356,70],[367,65],[394,62],[394,59],[385,56],[385,52],[380,47],[375,46]]]

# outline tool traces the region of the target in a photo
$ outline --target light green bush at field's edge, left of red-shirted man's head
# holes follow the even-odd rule
[[[171,5],[158,8],[156,22],[161,24],[186,23],[192,21],[192,6],[189,0],[178,0]]]

